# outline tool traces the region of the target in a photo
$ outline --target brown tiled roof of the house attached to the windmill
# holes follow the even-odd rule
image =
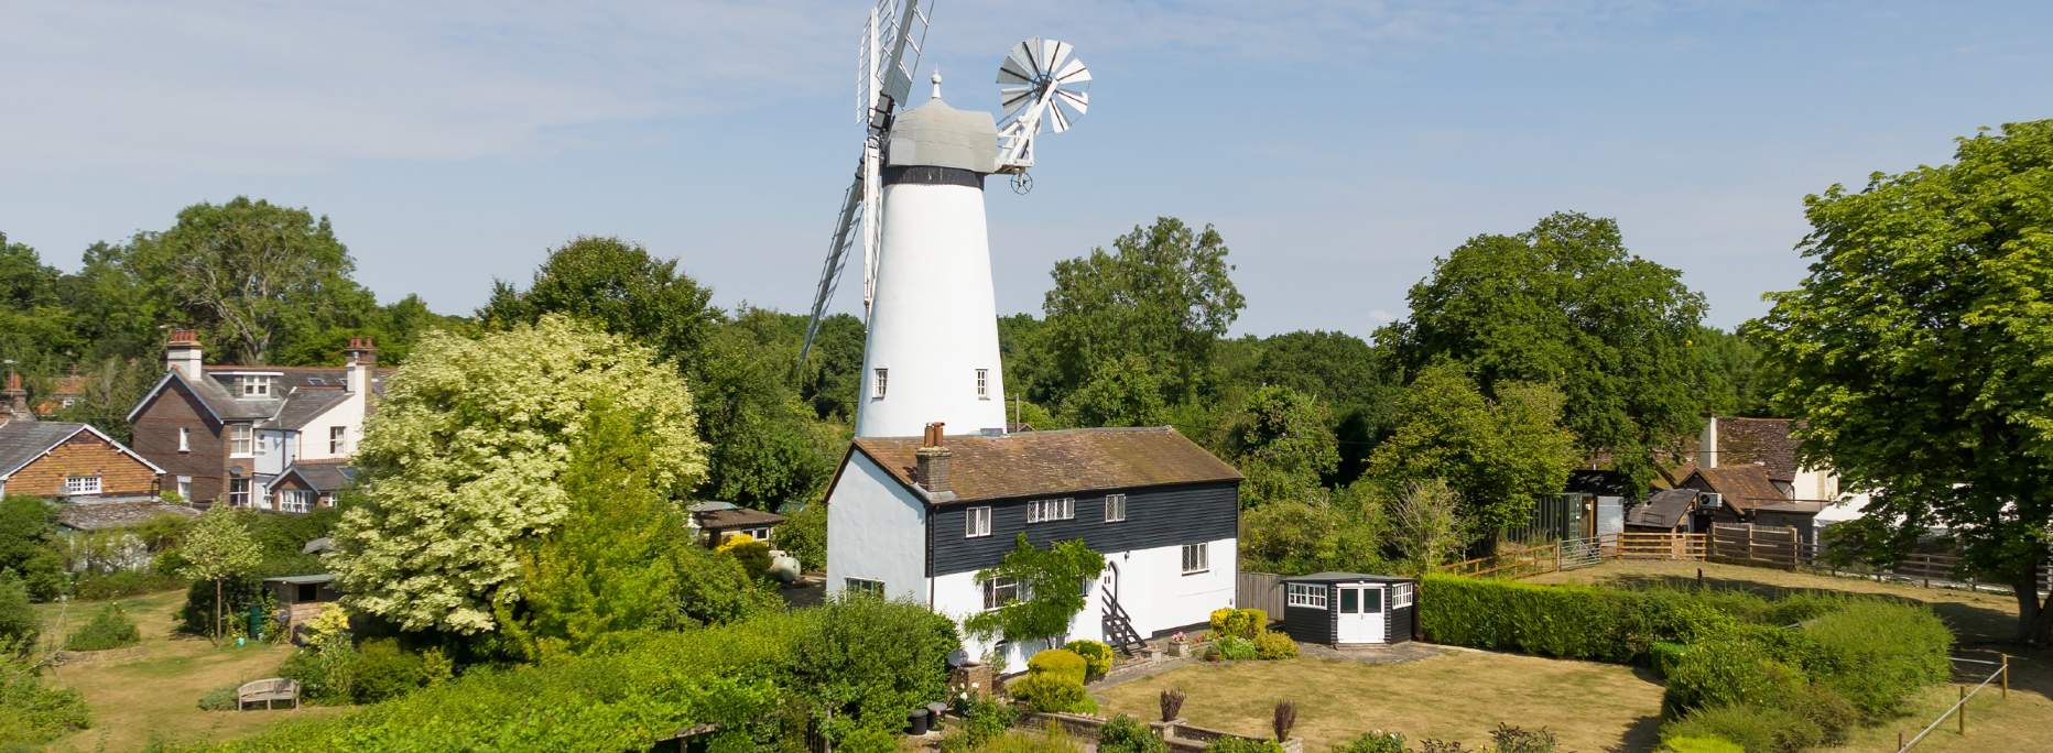
[[[858,437],[854,449],[914,488],[920,443],[920,437]],[[944,443],[957,503],[1242,478],[1170,427],[963,435]]]

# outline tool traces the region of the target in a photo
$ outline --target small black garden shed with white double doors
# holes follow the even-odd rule
[[[1314,572],[1283,579],[1283,632],[1328,646],[1406,642],[1419,579]]]

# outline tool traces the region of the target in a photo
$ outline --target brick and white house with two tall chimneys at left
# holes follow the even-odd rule
[[[135,451],[164,468],[166,490],[195,505],[265,511],[287,499],[289,511],[310,509],[273,486],[296,464],[355,455],[370,398],[390,375],[370,339],[351,339],[341,367],[203,365],[193,330],[172,330],[164,365],[129,412]]]

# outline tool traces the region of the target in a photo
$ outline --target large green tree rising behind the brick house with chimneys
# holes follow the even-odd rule
[[[273,363],[292,339],[353,324],[376,306],[349,277],[355,261],[328,217],[261,199],[185,207],[170,230],[135,234],[113,259],[144,295],[218,343],[224,363]]]

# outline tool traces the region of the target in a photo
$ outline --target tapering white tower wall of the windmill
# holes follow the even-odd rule
[[[918,437],[932,421],[953,435],[1004,429],[983,191],[887,185],[883,220],[856,437]],[[881,400],[877,369],[889,369]]]

